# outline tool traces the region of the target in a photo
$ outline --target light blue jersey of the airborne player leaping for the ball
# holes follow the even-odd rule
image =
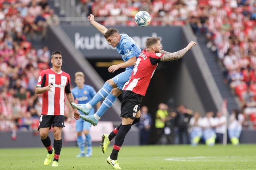
[[[141,53],[141,49],[137,43],[127,34],[120,34],[121,39],[116,46],[116,50],[121,54],[123,60],[126,62],[130,58],[136,56],[136,59]],[[127,67],[126,70],[133,70],[133,66]]]

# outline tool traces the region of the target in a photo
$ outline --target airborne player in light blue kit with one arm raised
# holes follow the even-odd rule
[[[107,80],[99,92],[87,104],[77,105],[72,103],[73,107],[81,110],[85,114],[88,114],[90,109],[92,109],[95,104],[106,98],[99,110],[97,110],[93,116],[80,115],[83,120],[90,122],[93,126],[96,126],[100,117],[102,117],[106,110],[112,106],[118,95],[122,93],[122,88],[129,80],[133,66],[137,61],[141,50],[136,42],[127,34],[119,34],[119,31],[116,28],[107,29],[106,27],[95,22],[92,14],[89,15],[88,19],[90,20],[91,24],[104,35],[109,45],[116,47],[118,53],[121,54],[122,59],[125,61],[124,63],[110,66],[108,71],[110,73],[114,73],[114,71],[118,70],[119,68],[126,68],[123,73],[120,73],[114,78]]]

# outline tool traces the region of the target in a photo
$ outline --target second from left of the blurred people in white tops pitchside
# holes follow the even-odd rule
[[[215,145],[215,132],[214,127],[216,126],[216,121],[213,118],[213,112],[207,112],[206,116],[202,120],[202,127],[203,127],[203,136],[204,141],[207,146]]]

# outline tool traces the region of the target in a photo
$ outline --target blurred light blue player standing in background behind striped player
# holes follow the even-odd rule
[[[90,101],[96,94],[94,88],[90,85],[85,85],[85,75],[82,72],[76,72],[75,74],[76,87],[71,90],[74,99],[78,101],[78,104],[86,104]],[[97,103],[97,109],[100,107],[100,102]],[[82,114],[82,112],[80,112]],[[90,110],[89,115],[94,114],[94,109]],[[92,139],[89,133],[91,124],[89,122],[83,121],[81,118],[76,120],[76,132],[77,132],[77,145],[80,148],[81,153],[77,155],[77,158],[86,156],[92,156]],[[86,148],[87,154],[85,154],[85,140],[83,139],[82,133],[86,137]]]

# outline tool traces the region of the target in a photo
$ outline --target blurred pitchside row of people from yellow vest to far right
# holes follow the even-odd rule
[[[205,115],[204,117],[201,117]],[[143,120],[141,120],[143,121]],[[151,126],[150,144],[191,144],[205,143],[213,146],[223,143],[227,131],[228,141],[233,145],[239,144],[244,116],[239,110],[233,110],[228,118],[222,112],[206,112],[200,114],[179,105],[169,109],[166,104],[159,104],[156,112],[155,127]],[[154,128],[153,128],[154,127]]]

